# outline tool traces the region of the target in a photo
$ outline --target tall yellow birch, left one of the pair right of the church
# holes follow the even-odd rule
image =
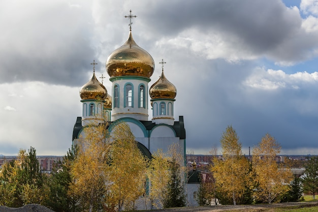
[[[211,167],[218,198],[221,203],[230,198],[234,205],[245,203],[244,195],[252,186],[250,165],[242,154],[242,143],[232,126],[222,134],[220,143],[223,160],[214,158]]]

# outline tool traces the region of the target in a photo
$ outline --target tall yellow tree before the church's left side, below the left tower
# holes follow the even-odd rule
[[[78,205],[83,211],[102,209],[107,185],[111,183],[107,176],[110,145],[105,142],[106,132],[104,125],[86,126],[77,145],[68,195],[78,199]]]

